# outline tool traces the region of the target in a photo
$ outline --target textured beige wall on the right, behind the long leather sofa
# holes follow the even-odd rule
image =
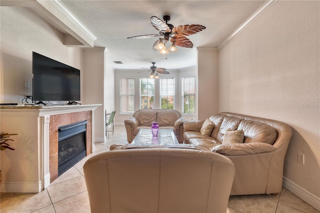
[[[320,197],[319,4],[276,1],[220,49],[218,60],[219,111],[291,125],[284,177],[314,200]]]

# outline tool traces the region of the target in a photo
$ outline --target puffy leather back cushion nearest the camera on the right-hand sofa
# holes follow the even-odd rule
[[[262,122],[241,120],[238,129],[244,132],[244,143],[265,142],[273,144],[276,139],[276,130]]]

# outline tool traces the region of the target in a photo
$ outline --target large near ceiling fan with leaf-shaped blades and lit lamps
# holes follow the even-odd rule
[[[186,38],[185,36],[195,34],[199,31],[205,29],[205,26],[199,24],[191,24],[191,25],[179,25],[174,27],[172,24],[167,23],[170,20],[169,15],[164,15],[163,20],[159,19],[156,16],[151,16],[150,21],[152,26],[159,31],[159,34],[146,34],[146,35],[137,35],[127,38],[149,38],[149,37],[160,37],[153,44],[153,50],[160,50],[160,53],[166,54],[168,51],[166,50],[165,44],[168,40],[171,41],[172,45],[169,47],[169,51],[177,51],[176,46],[192,48],[193,43]]]

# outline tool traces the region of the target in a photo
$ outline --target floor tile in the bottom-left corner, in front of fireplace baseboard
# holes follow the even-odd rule
[[[39,193],[25,193],[5,201],[1,200],[1,213],[32,212],[52,204],[47,190]]]

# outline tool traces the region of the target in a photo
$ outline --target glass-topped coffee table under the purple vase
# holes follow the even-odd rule
[[[141,128],[131,143],[150,143],[150,144],[177,144],[179,143],[175,137],[173,129],[159,128],[158,135],[152,136],[151,129]]]

